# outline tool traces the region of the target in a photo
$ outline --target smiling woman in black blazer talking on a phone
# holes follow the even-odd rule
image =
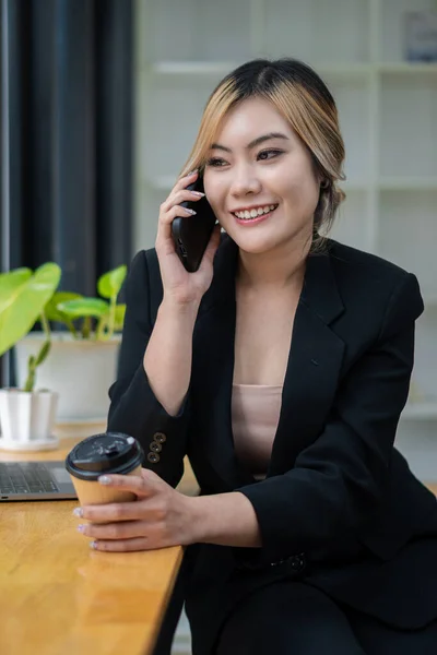
[[[393,448],[423,301],[411,273],[319,236],[343,159],[310,68],[246,63],[131,265],[108,428],[147,460],[102,480],[138,502],[84,508],[82,529],[97,550],[188,546],[196,655],[436,652],[436,500]],[[226,235],[187,273],[170,224],[198,175]],[[174,489],[186,454],[198,498]]]

